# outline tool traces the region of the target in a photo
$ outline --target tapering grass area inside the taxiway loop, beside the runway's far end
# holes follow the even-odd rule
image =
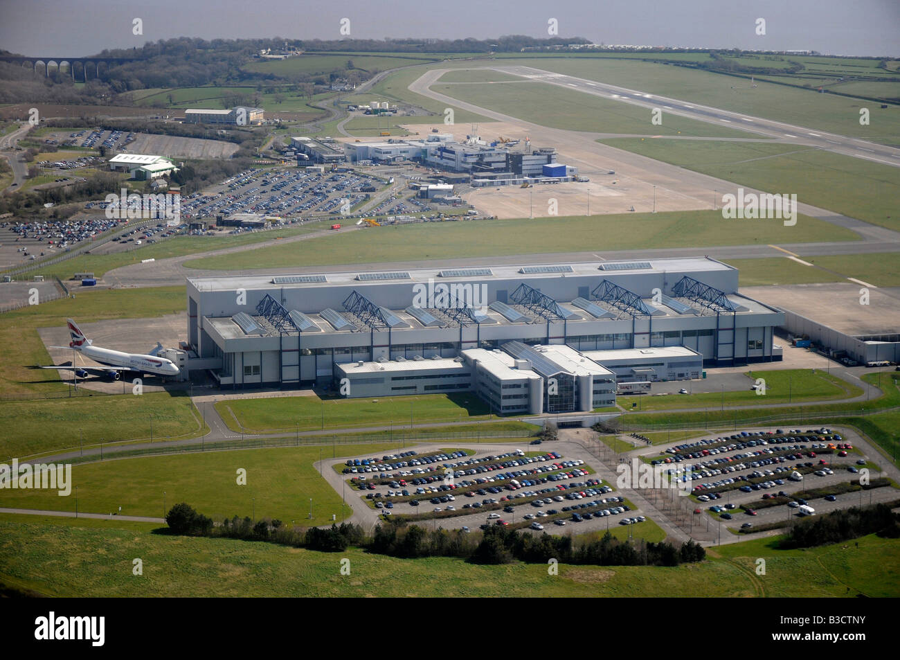
[[[459,74],[461,75],[461,73]],[[461,101],[509,114],[526,122],[568,131],[631,133],[638,135],[691,135],[750,138],[751,133],[663,114],[662,125],[651,122],[648,108],[606,97],[573,91],[548,83],[520,82],[497,85],[440,85],[431,90]]]

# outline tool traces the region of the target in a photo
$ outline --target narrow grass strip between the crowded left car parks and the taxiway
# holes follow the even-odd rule
[[[160,240],[157,243],[141,246],[124,252],[112,252],[111,254],[90,254],[73,257],[39,268],[34,275],[45,277],[58,276],[61,280],[67,280],[73,273],[94,273],[97,277],[113,268],[139,264],[142,259],[164,259],[169,257],[184,257],[184,255],[198,252],[209,252],[215,249],[236,248],[240,245],[253,243],[265,243],[289,236],[299,236],[313,231],[327,229],[324,222],[311,222],[302,226],[284,227],[269,231],[258,231],[238,234],[236,236],[174,236],[171,239]]]

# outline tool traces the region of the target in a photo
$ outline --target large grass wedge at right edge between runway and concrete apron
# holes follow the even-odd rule
[[[800,203],[900,229],[894,203],[900,199],[900,167],[790,144],[639,138],[600,141],[738,185],[774,194],[796,193]],[[718,192],[736,194],[736,186]]]

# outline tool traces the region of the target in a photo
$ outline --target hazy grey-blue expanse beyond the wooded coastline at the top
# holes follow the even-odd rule
[[[558,36],[595,43],[900,57],[900,0],[0,0],[0,48],[84,57],[182,36],[341,39],[345,18],[359,39],[545,37],[555,19]]]

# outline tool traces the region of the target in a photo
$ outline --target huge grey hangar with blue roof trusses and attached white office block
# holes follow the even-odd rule
[[[189,277],[188,366],[235,388],[346,378],[352,397],[590,411],[617,383],[780,360],[784,312],[737,288],[713,258]]]

